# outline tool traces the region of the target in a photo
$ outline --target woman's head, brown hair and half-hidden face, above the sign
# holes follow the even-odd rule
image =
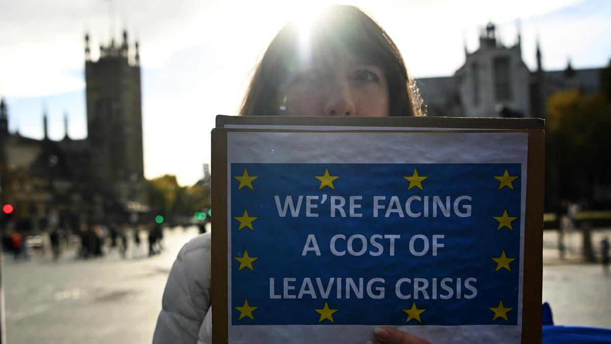
[[[276,35],[240,116],[423,115],[400,51],[371,17],[336,5],[309,24],[290,23]]]

